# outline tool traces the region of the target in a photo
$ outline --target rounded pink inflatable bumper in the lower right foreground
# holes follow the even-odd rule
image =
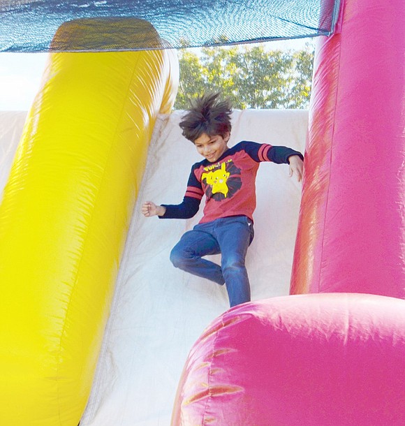
[[[172,426],[405,425],[405,300],[292,295],[240,305],[193,346]]]

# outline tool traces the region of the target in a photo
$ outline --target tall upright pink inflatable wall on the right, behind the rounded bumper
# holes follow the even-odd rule
[[[343,12],[316,49],[290,291],[404,298],[404,2]]]

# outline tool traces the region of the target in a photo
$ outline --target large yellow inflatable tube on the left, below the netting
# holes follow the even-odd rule
[[[54,53],[0,206],[0,424],[77,426],[170,50]]]

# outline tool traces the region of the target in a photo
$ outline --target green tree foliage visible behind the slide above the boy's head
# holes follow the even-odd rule
[[[265,50],[262,45],[202,47],[179,50],[180,81],[176,110],[189,98],[222,91],[233,108],[293,108],[309,106],[314,48]]]

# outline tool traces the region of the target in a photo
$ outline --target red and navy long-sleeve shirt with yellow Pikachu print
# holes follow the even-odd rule
[[[200,207],[206,196],[204,214],[200,223],[221,217],[244,215],[253,221],[256,209],[256,175],[260,162],[289,163],[288,157],[300,152],[281,146],[242,141],[229,148],[210,163],[207,159],[191,168],[187,189],[182,203],[163,205],[162,219],[189,219]]]

